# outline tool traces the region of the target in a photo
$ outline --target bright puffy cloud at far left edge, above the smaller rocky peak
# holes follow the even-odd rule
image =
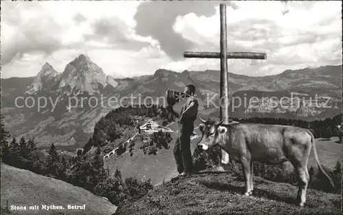
[[[41,51],[50,54],[60,47],[63,29],[54,18],[41,19],[27,13],[20,14],[23,21],[19,21],[14,18],[17,11],[11,8],[8,12],[6,6],[8,4],[3,5],[6,12],[2,16],[8,23],[1,23],[1,64],[10,63],[15,56],[21,58],[24,53]]]

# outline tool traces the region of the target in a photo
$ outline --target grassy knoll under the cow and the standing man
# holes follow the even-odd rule
[[[199,173],[156,187],[116,214],[341,214],[339,194],[308,190],[305,207],[294,205],[296,186],[254,177],[253,197],[231,173]]]

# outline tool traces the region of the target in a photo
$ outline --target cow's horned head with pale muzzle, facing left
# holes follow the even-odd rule
[[[203,123],[199,125],[199,129],[202,132],[202,138],[200,142],[198,142],[197,147],[199,149],[207,150],[215,144],[220,143],[220,140],[226,135],[227,129],[224,126],[220,126],[223,121],[204,121],[202,118],[200,118],[200,121]]]

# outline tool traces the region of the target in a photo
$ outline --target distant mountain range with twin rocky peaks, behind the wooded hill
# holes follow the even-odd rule
[[[49,71],[51,68],[53,67],[47,63],[42,66],[40,71],[44,71],[44,69]],[[340,99],[342,97],[342,79],[338,79],[338,77],[342,77],[341,72],[342,65],[320,66],[297,71],[287,70],[279,75],[266,77],[249,77],[229,73],[229,96],[231,97],[237,92],[255,94],[255,91],[261,92],[261,95],[265,92],[281,95],[285,91],[311,95],[317,93],[332,97],[333,105],[338,106],[337,111],[339,111],[342,103]],[[214,103],[219,102],[220,71],[185,70],[178,73],[161,68],[152,75],[116,79],[106,75],[102,68],[91,62],[86,55],[81,54],[67,64],[63,73],[55,70],[51,73],[54,74],[53,77],[47,81],[43,80],[40,85],[36,84],[36,86],[42,87],[34,88],[38,90],[32,90],[32,94],[25,94],[27,87],[32,86],[37,80],[42,81],[41,74],[30,78],[1,79],[1,112],[5,115],[8,130],[15,136],[37,136],[38,140],[44,142],[42,142],[43,145],[53,140],[56,145],[69,146],[78,142],[82,146],[91,136],[99,118],[115,109],[108,105],[111,98],[117,98],[119,101],[121,97],[133,96],[141,97],[141,102],[143,102],[145,98],[151,97],[152,99],[156,98],[154,102],[165,105],[165,103],[161,103],[161,100],[157,100],[165,97],[165,90],[183,91],[188,84],[196,86],[199,112],[207,115],[219,112],[219,108],[211,106],[209,99],[215,97]],[[30,80],[32,80],[31,83]],[[19,100],[21,101],[19,105],[22,105],[23,100],[28,96],[34,98],[34,101],[38,101],[39,97],[47,98],[46,107],[40,108],[38,111],[36,103],[33,108],[16,108],[15,98],[23,97],[22,100]],[[102,96],[103,100],[101,100]],[[56,101],[56,107],[48,99]],[[81,101],[81,99],[85,100]],[[72,101],[71,105],[69,100]],[[125,99],[123,101],[124,103],[129,102]],[[105,107],[100,105],[101,102],[106,104]],[[137,102],[139,100],[134,99],[134,103]],[[176,106],[178,105],[176,104]],[[300,111],[295,111],[295,113],[299,113],[297,117],[305,118],[308,121],[337,114],[336,112],[331,113],[329,109],[319,111],[324,114],[318,114],[317,110],[314,110],[313,114],[309,116],[303,116],[304,114]],[[248,114],[246,110],[240,110],[239,113],[246,114],[246,116],[272,114],[266,112],[263,107],[250,109]],[[270,116],[276,118],[295,117],[294,114],[283,114],[279,110]]]

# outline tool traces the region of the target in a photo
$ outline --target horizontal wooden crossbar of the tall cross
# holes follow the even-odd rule
[[[221,58],[220,52],[195,52],[186,51],[183,56],[185,58]],[[258,52],[228,52],[226,58],[230,59],[258,59],[265,60],[267,55]]]

